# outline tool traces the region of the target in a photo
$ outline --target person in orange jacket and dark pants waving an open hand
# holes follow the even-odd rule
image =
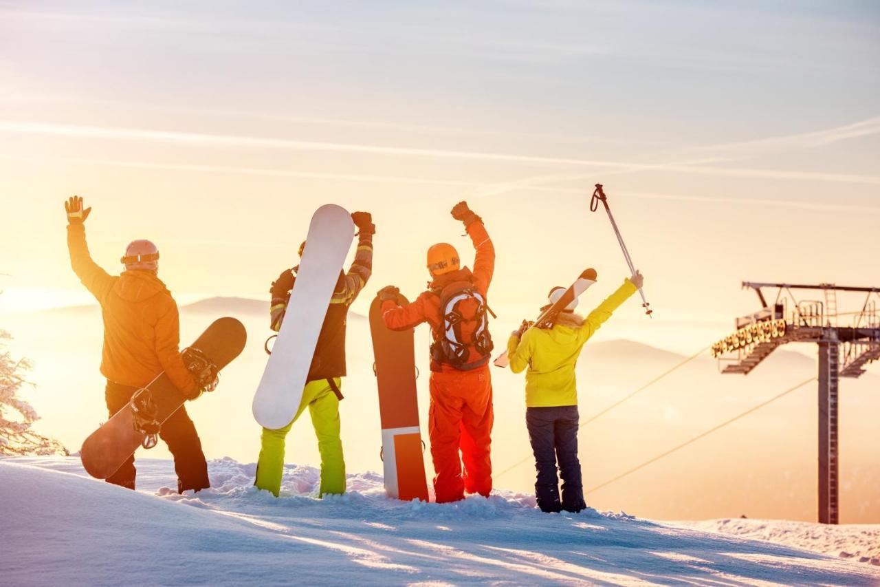
[[[105,399],[110,415],[128,405],[136,390],[163,371],[187,398],[202,392],[180,356],[180,322],[177,303],[158,279],[159,252],[150,241],[132,241],[121,262],[125,271],[111,276],[92,261],[85,242],[85,219],[92,208],[82,197],[64,203],[67,212],[67,247],[70,266],[95,296],[104,319],[101,375],[106,377]],[[159,436],[174,456],[178,491],[210,487],[202,442],[185,407],[165,420]],[[135,457],[129,457],[106,480],[135,488]]]

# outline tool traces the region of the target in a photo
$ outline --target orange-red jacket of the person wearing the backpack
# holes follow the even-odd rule
[[[495,246],[492,244],[492,239],[489,238],[482,221],[472,222],[466,230],[473,242],[473,248],[477,251],[473,259],[473,285],[480,294],[483,294],[483,297],[486,297],[489,284],[492,282],[492,275],[495,272]],[[401,307],[395,301],[386,300],[382,304],[385,326],[392,331],[403,331],[427,322],[431,327],[432,337],[435,340],[441,337],[443,333],[440,329],[443,326],[443,316],[440,315],[440,296],[436,294],[436,291],[452,281],[462,279],[462,276],[469,272],[471,271],[465,267],[458,271],[444,273],[429,283],[430,289],[428,291],[422,292],[419,297],[406,306]],[[431,370],[458,371],[450,365],[437,365],[433,360],[431,361]]]

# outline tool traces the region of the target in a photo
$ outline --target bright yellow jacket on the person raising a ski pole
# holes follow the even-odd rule
[[[529,368],[525,374],[525,405],[577,405],[575,365],[583,344],[635,291],[627,279],[586,319],[562,313],[552,329],[529,329],[522,340],[515,335],[510,337],[507,343],[510,370],[520,373]]]

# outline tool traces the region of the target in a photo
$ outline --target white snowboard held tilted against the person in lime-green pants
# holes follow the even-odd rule
[[[355,224],[344,208],[326,204],[312,216],[284,322],[253,396],[253,417],[262,427],[277,430],[297,415],[327,307],[354,238]]]

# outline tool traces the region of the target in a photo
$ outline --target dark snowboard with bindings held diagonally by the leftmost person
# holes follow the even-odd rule
[[[238,357],[246,339],[244,325],[235,318],[224,317],[183,350],[184,363],[201,390],[214,390],[220,370]],[[186,399],[168,375],[158,375],[85,439],[79,452],[85,471],[97,479],[107,479],[138,447],[156,446],[162,424]]]

